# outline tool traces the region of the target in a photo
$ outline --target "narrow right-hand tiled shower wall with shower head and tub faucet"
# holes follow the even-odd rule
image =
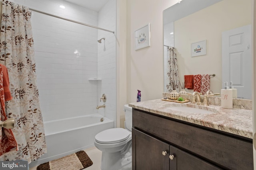
[[[116,0],[109,0],[98,13],[98,26],[116,32]],[[100,97],[106,94],[106,108],[99,109],[99,113],[115,121],[116,125],[116,37],[113,33],[99,30],[98,39],[105,37],[104,42],[98,43],[98,105],[102,105]]]

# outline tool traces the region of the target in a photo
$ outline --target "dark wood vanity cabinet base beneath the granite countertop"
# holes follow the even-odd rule
[[[252,140],[133,109],[133,170],[253,170]]]

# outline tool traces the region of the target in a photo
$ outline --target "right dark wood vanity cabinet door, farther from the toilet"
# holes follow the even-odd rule
[[[222,170],[196,156],[170,145],[170,170]]]

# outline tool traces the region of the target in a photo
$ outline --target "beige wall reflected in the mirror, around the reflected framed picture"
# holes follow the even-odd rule
[[[179,78],[216,74],[211,90],[222,88],[222,32],[251,24],[251,0],[224,0],[174,22]],[[232,4],[232,5],[230,5]],[[191,57],[191,43],[206,40],[206,55]]]

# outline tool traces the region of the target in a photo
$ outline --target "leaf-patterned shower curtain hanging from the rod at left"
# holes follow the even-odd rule
[[[16,119],[12,130],[19,150],[5,154],[0,160],[30,163],[46,153],[30,17],[28,7],[3,0],[0,63],[7,67],[9,74],[12,100],[6,102],[6,115]]]

